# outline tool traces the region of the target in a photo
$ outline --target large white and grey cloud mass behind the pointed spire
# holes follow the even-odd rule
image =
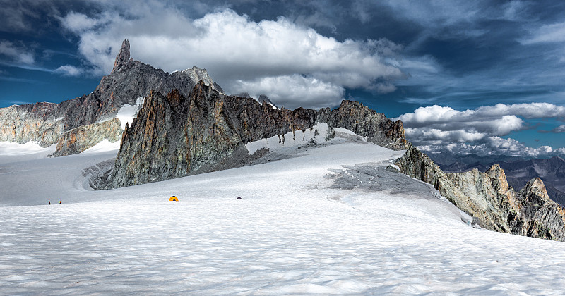
[[[112,70],[121,40],[129,39],[139,61],[168,72],[206,68],[229,93],[266,94],[291,109],[336,106],[345,88],[392,92],[405,77],[393,65],[402,47],[387,39],[338,41],[284,17],[255,22],[225,9],[193,20],[151,5],[131,15],[71,12],[60,21],[80,38],[79,51],[97,75]]]

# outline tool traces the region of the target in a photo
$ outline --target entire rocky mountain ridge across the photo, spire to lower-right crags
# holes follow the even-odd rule
[[[115,118],[122,106],[144,99],[137,118],[124,132]],[[285,142],[316,124],[347,128],[368,142],[407,149],[400,170],[436,187],[441,195],[474,217],[474,223],[536,238],[565,240],[564,209],[547,195],[542,180],[533,178],[519,190],[509,185],[501,166],[484,172],[444,173],[425,154],[409,147],[401,121],[356,101],[338,109],[278,108],[268,98],[227,96],[206,70],[191,68],[165,73],[134,61],[124,40],[112,72],[94,92],[60,104],[37,103],[0,109],[0,141],[57,143],[54,156],[79,153],[108,139],[121,147],[114,164],[95,171],[97,189],[124,187],[194,173],[229,168],[249,157],[245,144],[269,137]],[[259,152],[256,152],[259,153]],[[261,153],[264,153],[261,152]],[[113,168],[112,168],[113,167]],[[110,171],[112,168],[112,171]],[[559,170],[557,170],[559,171]]]

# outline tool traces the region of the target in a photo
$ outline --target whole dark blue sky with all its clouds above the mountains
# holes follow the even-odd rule
[[[0,107],[88,94],[121,41],[286,108],[356,99],[431,151],[565,153],[560,1],[0,0]]]

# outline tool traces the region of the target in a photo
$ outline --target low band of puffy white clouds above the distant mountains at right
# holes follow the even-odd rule
[[[458,111],[434,105],[420,107],[395,119],[403,121],[408,140],[425,151],[534,157],[565,153],[564,148],[531,148],[512,138],[504,138],[511,132],[532,128],[523,118],[565,118],[565,107],[548,103],[496,104]],[[551,132],[565,132],[565,125]]]

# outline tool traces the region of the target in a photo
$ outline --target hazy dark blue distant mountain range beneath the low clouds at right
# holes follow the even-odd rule
[[[561,206],[565,206],[565,159],[559,156],[550,159],[524,159],[504,155],[478,156],[432,152],[427,154],[441,170],[447,173],[465,172],[473,168],[486,171],[492,165],[499,164],[506,173],[509,185],[516,190],[520,190],[532,178],[540,178],[545,184],[549,197]]]

